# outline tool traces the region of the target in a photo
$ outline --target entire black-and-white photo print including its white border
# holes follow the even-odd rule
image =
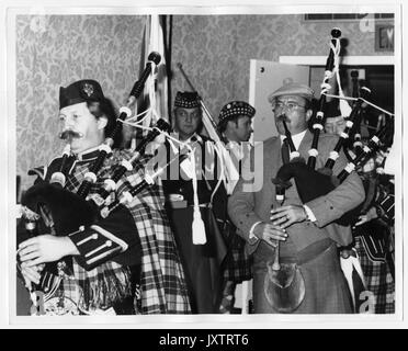
[[[401,321],[400,3],[4,14],[9,325]]]

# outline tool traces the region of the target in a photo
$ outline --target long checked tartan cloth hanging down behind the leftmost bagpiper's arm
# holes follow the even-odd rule
[[[145,179],[143,157],[134,173],[117,182],[117,193]],[[128,204],[141,245],[141,314],[190,314],[191,305],[174,236],[165,210],[160,180],[138,193]]]

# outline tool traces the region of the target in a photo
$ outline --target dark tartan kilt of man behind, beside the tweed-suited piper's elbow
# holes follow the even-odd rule
[[[223,262],[224,281],[236,284],[252,279],[253,258],[245,249],[246,241],[237,234],[237,228],[226,222],[224,235],[227,242],[227,256]]]

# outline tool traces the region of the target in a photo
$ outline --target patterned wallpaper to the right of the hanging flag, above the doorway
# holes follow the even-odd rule
[[[174,16],[173,65],[183,64],[214,117],[230,100],[249,98],[249,60],[279,61],[280,56],[327,56],[335,26],[348,42],[348,55],[374,52],[374,33],[359,22],[304,22],[302,14]],[[186,89],[174,71],[173,91]]]

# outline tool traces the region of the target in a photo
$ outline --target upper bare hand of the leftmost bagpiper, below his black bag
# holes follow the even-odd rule
[[[21,262],[26,267],[54,262],[69,254],[79,254],[77,247],[68,237],[41,235],[19,245]]]

